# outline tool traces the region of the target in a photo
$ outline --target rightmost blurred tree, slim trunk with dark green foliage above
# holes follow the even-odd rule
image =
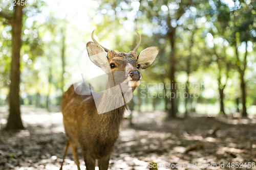
[[[237,60],[237,69],[240,73],[240,87],[242,92],[242,105],[243,105],[243,112],[242,116],[247,117],[246,111],[246,80],[245,80],[245,70],[247,67],[247,56],[248,56],[248,49],[247,43],[249,41],[255,42],[256,41],[256,34],[255,34],[255,22],[254,18],[256,17],[255,12],[256,3],[253,2],[251,5],[248,5],[244,2],[241,2],[240,7],[238,8],[235,6],[234,12],[231,12],[231,22],[232,25],[232,34],[230,36],[229,42],[231,43],[232,47],[235,51],[235,58]],[[254,22],[254,23],[253,23]],[[253,34],[254,32],[254,34]],[[244,45],[245,53],[239,53],[239,47]]]

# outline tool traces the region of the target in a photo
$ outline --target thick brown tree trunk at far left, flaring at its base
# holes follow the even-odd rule
[[[19,57],[20,47],[22,46],[22,40],[20,39],[22,33],[22,12],[23,6],[14,6],[14,15],[12,21],[12,61],[11,61],[11,84],[9,94],[9,117],[8,122],[4,130],[17,130],[25,129],[22,124],[22,118],[20,116],[20,101],[19,101],[19,82],[20,82],[20,70],[19,70]]]

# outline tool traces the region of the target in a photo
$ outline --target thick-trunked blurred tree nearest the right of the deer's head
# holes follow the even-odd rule
[[[182,18],[183,14],[186,10],[189,9],[190,6],[194,6],[193,1],[182,1],[182,2],[167,2],[164,1],[162,3],[155,2],[147,2],[142,5],[140,10],[147,15],[148,18],[151,19],[153,23],[157,23],[160,26],[162,32],[158,32],[157,34],[161,34],[167,40],[170,48],[170,53],[168,56],[168,78],[171,81],[170,88],[170,98],[169,100],[171,108],[168,109],[167,118],[175,118],[176,113],[178,112],[178,96],[177,89],[173,88],[176,85],[175,72],[177,71],[177,46],[176,42],[179,38],[177,36],[177,28],[182,27],[179,25],[178,21]],[[184,19],[184,18],[183,18]],[[181,21],[181,20],[180,20]],[[182,22],[182,21],[181,21]]]

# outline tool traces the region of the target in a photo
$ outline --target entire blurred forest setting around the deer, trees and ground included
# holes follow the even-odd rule
[[[73,68],[85,60],[84,68],[102,73],[91,65],[86,50],[94,29],[95,39],[116,52],[129,53],[135,47],[139,39],[135,31],[142,36],[137,54],[149,46],[160,48],[155,63],[141,70],[143,82],[126,113],[137,129],[121,132],[116,160],[127,163],[136,156],[142,160],[145,148],[154,143],[143,161],[193,161],[193,155],[196,162],[199,158],[210,162],[214,159],[209,155],[215,153],[220,162],[256,161],[255,1],[18,3],[22,2],[0,0],[0,128],[27,130],[1,132],[0,166],[20,167],[16,158],[23,156],[23,167],[31,163],[35,169],[58,169],[52,164],[59,162],[65,144],[61,96],[75,83]],[[217,119],[195,119],[195,115]],[[159,139],[166,139],[165,144]],[[195,143],[199,144],[193,147]],[[166,152],[172,156],[157,159],[156,153]],[[185,156],[178,159],[175,153]],[[126,163],[114,165],[130,167]]]

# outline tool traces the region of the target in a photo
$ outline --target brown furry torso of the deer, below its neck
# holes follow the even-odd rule
[[[63,122],[71,147],[75,145],[76,148],[79,145],[83,156],[89,158],[109,159],[118,138],[124,106],[108,114],[98,114],[92,95],[76,94],[73,85],[63,95],[63,101],[65,99],[72,99],[67,105],[62,103],[62,110],[65,110]]]

